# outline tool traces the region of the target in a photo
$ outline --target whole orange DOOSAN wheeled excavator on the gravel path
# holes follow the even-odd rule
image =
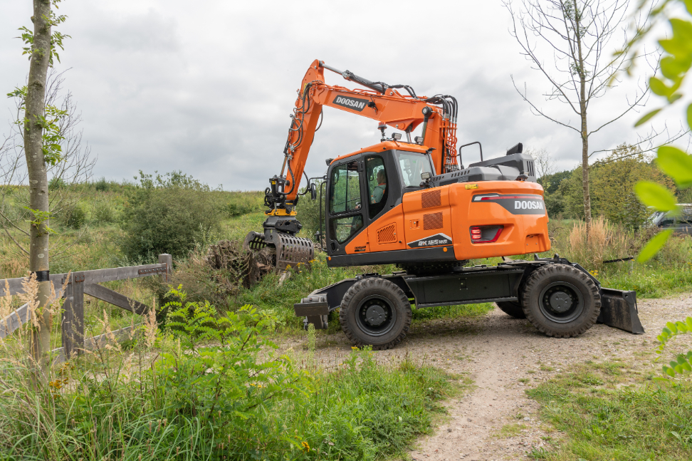
[[[325,70],[366,89],[325,83]],[[380,143],[327,159],[324,177],[303,172],[323,106],[379,122]],[[314,61],[303,78],[283,150],[281,173],[265,191],[264,232],[251,232],[251,249],[276,248],[276,265],[310,264],[313,241],[296,237],[300,181],[317,199],[326,228],[315,239],[328,266],[396,264],[392,274],[362,274],[313,291],[294,305],[305,326],[326,328],[332,311],[356,346],[395,346],[411,323],[411,304],[495,302],[510,316],[528,318],[548,336],[577,336],[600,321],[643,333],[634,291],[607,289],[582,266],[550,250],[542,187],[533,157],[518,143],[499,158],[464,167],[456,150],[458,105],[450,95],[416,95]],[[319,125],[318,125],[319,124]],[[387,138],[387,127],[402,132]],[[416,128],[420,135],[411,139]],[[322,202],[323,190],[326,200]],[[320,222],[323,219],[320,217]],[[510,255],[534,254],[533,259]],[[496,266],[471,259],[502,257]]]

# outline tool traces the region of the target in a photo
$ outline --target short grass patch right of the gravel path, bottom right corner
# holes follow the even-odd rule
[[[565,435],[546,460],[692,459],[692,385],[644,380],[621,361],[583,363],[527,390]]]

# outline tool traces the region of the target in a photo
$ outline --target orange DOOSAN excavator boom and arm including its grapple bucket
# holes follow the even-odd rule
[[[349,89],[325,83],[325,69],[340,74],[367,89]],[[407,94],[402,94],[404,90]],[[305,73],[298,89],[298,98],[291,115],[288,139],[283,150],[281,173],[270,178],[271,187],[265,191],[266,221],[264,232],[250,232],[245,247],[262,250],[276,249],[276,267],[285,269],[295,264],[307,264],[313,259],[314,247],[310,239],[295,237],[302,225],[295,218],[301,177],[305,175],[305,162],[318,130],[324,106],[371,118],[379,122],[384,141],[387,125],[402,130],[411,143],[411,133],[419,125],[422,135],[414,143],[428,149],[438,174],[458,170],[456,162],[456,99],[449,95],[432,98],[416,95],[406,85],[388,85],[372,82],[350,71],[338,71],[315,60]],[[305,175],[307,178],[307,175]],[[312,186],[303,194],[308,193]]]

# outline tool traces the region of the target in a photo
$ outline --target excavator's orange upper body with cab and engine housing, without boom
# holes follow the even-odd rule
[[[442,174],[428,147],[399,140],[331,160],[327,264],[417,273],[549,250],[542,187],[521,150]]]

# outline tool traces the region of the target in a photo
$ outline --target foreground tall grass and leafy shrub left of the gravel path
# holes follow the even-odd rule
[[[278,353],[251,309],[173,307],[167,331],[149,316],[128,348],[54,366],[48,385],[3,343],[0,460],[374,460],[401,454],[455,392],[407,358],[353,350],[320,368]]]

